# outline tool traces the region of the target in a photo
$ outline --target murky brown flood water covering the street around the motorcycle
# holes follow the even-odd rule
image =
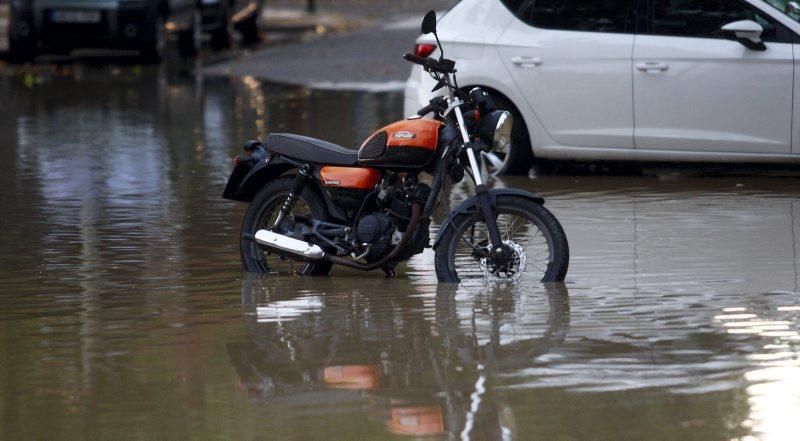
[[[401,107],[6,72],[0,438],[796,439],[800,174],[497,182],[562,221],[566,284],[440,286],[427,252],[394,280],[243,275],[241,142],[355,145]]]

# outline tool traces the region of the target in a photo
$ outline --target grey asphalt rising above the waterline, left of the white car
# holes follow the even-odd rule
[[[275,45],[204,69],[212,77],[253,77],[314,89],[398,91],[408,78],[424,14],[446,11],[450,0],[381,3],[340,0],[320,3],[320,14],[347,14],[367,23],[362,29],[325,38]],[[278,4],[280,5],[280,4]],[[302,54],[302,55],[299,55]]]

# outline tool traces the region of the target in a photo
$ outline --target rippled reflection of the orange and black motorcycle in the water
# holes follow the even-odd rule
[[[325,292],[315,292],[303,279],[291,286],[245,280],[250,337],[227,350],[252,400],[287,418],[335,412],[346,419],[342,409],[357,409],[353,426],[379,421],[400,435],[507,438],[514,412],[488,387],[493,374],[529,366],[569,327],[563,285],[524,299],[501,288],[476,296],[439,287],[425,296],[391,281],[351,283],[326,282]],[[535,324],[532,332],[503,326],[522,316]]]

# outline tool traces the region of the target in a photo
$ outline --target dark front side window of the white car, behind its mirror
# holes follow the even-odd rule
[[[739,20],[764,27],[761,39],[791,43],[791,31],[741,0],[653,0],[650,33],[695,38],[726,38],[721,28]]]

